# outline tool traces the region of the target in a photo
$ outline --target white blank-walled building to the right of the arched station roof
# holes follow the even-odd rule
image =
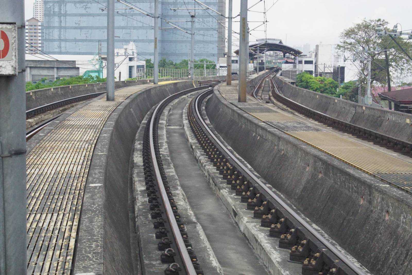
[[[315,76],[333,74],[332,44],[318,44],[315,48]]]

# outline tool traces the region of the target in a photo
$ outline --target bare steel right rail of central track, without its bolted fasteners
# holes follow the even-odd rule
[[[339,258],[346,266],[348,266],[351,270],[353,270],[354,273],[358,275],[365,275],[366,273],[363,272],[358,266],[356,266],[350,259],[348,259],[342,252],[340,252],[334,245],[332,245],[328,240],[326,240],[318,231],[316,231],[312,226],[310,226],[302,217],[300,217],[295,211],[293,211],[292,208],[290,208],[281,198],[279,198],[271,189],[269,189],[263,182],[260,181],[248,168],[246,168],[237,158],[234,156],[226,147],[225,145],[220,142],[220,140],[213,134],[213,132],[210,130],[210,128],[207,126],[203,118],[201,117],[200,111],[199,111],[199,98],[201,98],[202,95],[204,95],[206,92],[201,93],[199,96],[196,97],[195,100],[195,112],[196,116],[201,122],[203,128],[207,131],[208,135],[215,140],[215,142],[225,151],[226,156],[229,156],[235,163],[240,167],[242,170],[244,170],[247,175],[252,178],[259,186],[262,188],[265,192],[271,196],[276,203],[279,203],[281,207],[283,207],[286,212],[288,212],[294,219],[296,219],[302,227],[304,227],[309,233],[315,236],[326,248],[328,248],[337,258]]]

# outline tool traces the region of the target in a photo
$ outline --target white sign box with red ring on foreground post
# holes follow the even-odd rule
[[[17,25],[0,23],[0,75],[17,72]]]

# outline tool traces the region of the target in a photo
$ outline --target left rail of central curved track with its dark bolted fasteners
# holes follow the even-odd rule
[[[212,82],[212,85],[221,81]],[[169,266],[165,274],[204,274],[192,244],[187,235],[185,225],[180,219],[178,207],[169,188],[167,173],[164,170],[162,156],[159,151],[158,127],[164,108],[173,100],[194,91],[206,89],[207,86],[188,89],[173,94],[160,102],[150,114],[150,123],[146,124],[143,136],[143,170],[151,219],[155,234],[159,239],[158,249],[162,251],[162,263]],[[208,91],[213,88],[208,89]]]

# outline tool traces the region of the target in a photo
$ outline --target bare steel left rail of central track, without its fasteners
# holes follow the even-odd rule
[[[195,90],[195,89],[199,89],[199,88],[200,87],[192,88],[192,89],[188,89],[188,90]],[[205,89],[204,87],[201,87],[201,88]],[[153,112],[152,119],[150,120],[150,154],[151,154],[151,158],[152,158],[153,168],[155,169],[155,175],[156,175],[157,184],[159,186],[160,195],[162,196],[162,201],[164,203],[164,208],[166,210],[166,215],[169,219],[170,227],[172,229],[173,236],[176,240],[176,245],[179,249],[180,256],[182,258],[182,261],[183,261],[183,264],[185,266],[186,272],[189,275],[196,275],[197,274],[196,270],[193,267],[192,260],[190,259],[189,253],[187,252],[185,242],[183,241],[182,235],[180,234],[180,230],[179,230],[178,224],[176,222],[175,216],[173,214],[173,210],[172,210],[172,207],[170,205],[169,198],[167,197],[166,189],[164,188],[164,185],[163,185],[162,175],[160,175],[159,165],[157,164],[155,144],[154,144],[154,141],[153,141],[153,135],[154,135],[153,127],[155,125],[155,119],[156,119],[157,112],[159,111],[162,104],[164,104],[165,101],[167,101],[169,98],[171,98],[173,96],[176,96],[180,93],[185,93],[185,92],[187,93],[188,90],[181,91],[181,92],[175,93],[171,96],[168,96],[167,98],[162,100],[157,105],[155,111]],[[210,89],[208,91],[210,91]]]

